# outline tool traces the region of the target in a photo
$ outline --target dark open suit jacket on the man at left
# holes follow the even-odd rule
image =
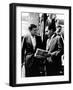
[[[23,47],[22,47],[22,64],[25,62],[26,64],[33,63],[34,53],[37,48],[42,47],[42,40],[40,36],[35,36],[36,38],[36,46],[33,48],[32,40],[30,36],[24,38]]]

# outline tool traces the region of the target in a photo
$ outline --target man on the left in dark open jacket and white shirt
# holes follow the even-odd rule
[[[38,76],[39,60],[34,57],[37,48],[41,48],[42,40],[37,36],[37,26],[31,24],[29,27],[30,35],[26,36],[23,41],[22,47],[22,65],[25,63],[25,76]]]

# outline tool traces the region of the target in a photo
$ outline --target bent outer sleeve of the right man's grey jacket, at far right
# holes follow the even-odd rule
[[[64,44],[62,38],[57,38],[57,50],[51,53],[51,56],[61,56],[64,53]]]

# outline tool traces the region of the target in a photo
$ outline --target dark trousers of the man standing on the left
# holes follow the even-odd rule
[[[34,60],[33,63],[30,62],[30,64],[25,63],[25,76],[26,77],[40,76],[39,64],[36,60]]]

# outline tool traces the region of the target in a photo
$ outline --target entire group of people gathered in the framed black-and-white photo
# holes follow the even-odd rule
[[[44,21],[44,19],[43,19]],[[37,35],[37,26],[30,24],[30,35],[22,38],[22,68],[25,76],[63,75],[62,56],[64,56],[64,32],[61,25],[56,25],[56,17],[46,18],[44,39]],[[44,57],[35,57],[37,48],[48,52]]]

